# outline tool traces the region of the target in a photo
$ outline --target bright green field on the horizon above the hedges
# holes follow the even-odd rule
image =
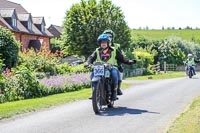
[[[147,39],[164,39],[177,36],[187,41],[200,43],[200,30],[132,30],[132,36],[143,35]]]

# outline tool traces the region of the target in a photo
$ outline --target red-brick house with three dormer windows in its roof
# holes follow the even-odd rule
[[[22,43],[21,50],[44,46],[50,49],[53,35],[45,29],[44,17],[33,17],[20,4],[0,0],[0,27],[12,31],[16,40]]]

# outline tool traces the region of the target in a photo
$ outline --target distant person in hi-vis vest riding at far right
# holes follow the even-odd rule
[[[194,72],[194,75],[196,75],[196,63],[199,63],[199,61],[197,61],[192,54],[188,54],[187,55],[187,60],[184,62],[184,63],[190,63],[192,64],[192,68],[193,68],[193,72]],[[188,66],[185,67],[185,72],[186,74],[188,75]]]

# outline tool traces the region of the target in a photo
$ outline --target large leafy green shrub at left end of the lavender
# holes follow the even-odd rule
[[[4,87],[0,93],[0,103],[41,97],[48,94],[47,88],[41,85],[34,74],[25,66],[18,66],[3,75],[6,82],[4,82]]]

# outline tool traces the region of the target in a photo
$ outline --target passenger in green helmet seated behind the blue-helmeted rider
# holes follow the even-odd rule
[[[110,46],[114,47],[115,49],[118,49],[119,52],[122,53],[122,50],[120,49],[120,44],[114,43],[114,37],[115,37],[115,33],[112,30],[105,30],[103,32],[103,34],[107,34],[110,37]],[[122,78],[123,78],[123,66],[121,62],[117,62],[118,65],[118,70],[120,72],[120,78],[119,78],[119,82],[118,82],[118,88],[117,88],[117,95],[123,95],[120,87],[121,87],[121,82],[122,82]]]

